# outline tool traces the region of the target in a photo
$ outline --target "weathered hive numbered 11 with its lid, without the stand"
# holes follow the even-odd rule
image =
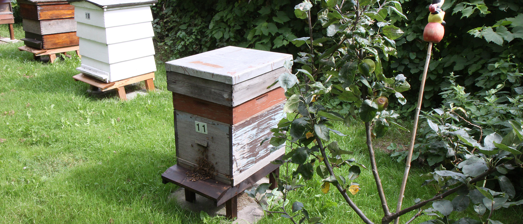
[[[205,158],[215,180],[241,183],[285,147],[270,152],[271,128],[285,117],[281,87],[267,87],[292,55],[228,46],[165,64],[173,92],[178,166],[194,169]]]

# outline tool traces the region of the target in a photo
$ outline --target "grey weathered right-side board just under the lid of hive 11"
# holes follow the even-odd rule
[[[247,102],[248,100],[254,99],[262,93],[268,92],[276,88],[280,88],[280,86],[277,84],[267,89],[267,87],[270,86],[273,82],[275,82],[281,74],[286,72],[288,72],[286,68],[280,67],[275,70],[272,70],[271,72],[233,85],[233,107]]]

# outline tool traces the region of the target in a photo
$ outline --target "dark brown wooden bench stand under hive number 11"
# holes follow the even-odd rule
[[[281,159],[281,157],[279,159]],[[271,190],[277,188],[278,183],[276,180],[280,171],[279,167],[280,165],[269,163],[240,184],[231,186],[213,179],[191,181],[186,174],[187,172],[191,172],[189,169],[174,165],[162,174],[162,181],[164,184],[174,183],[178,186],[184,187],[185,201],[194,202],[196,200],[196,194],[199,194],[214,201],[217,207],[225,203],[225,216],[233,219],[237,217],[238,212],[237,195],[251,187],[269,173],[269,183],[271,184],[269,188]],[[274,178],[275,176],[276,178]]]

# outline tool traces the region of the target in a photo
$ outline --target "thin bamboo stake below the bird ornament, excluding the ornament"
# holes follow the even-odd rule
[[[423,68],[422,83],[419,87],[418,105],[416,108],[416,116],[414,117],[414,126],[412,127],[411,144],[408,147],[407,163],[405,166],[405,173],[403,173],[403,181],[401,182],[400,195],[397,198],[396,213],[401,210],[401,204],[403,202],[403,194],[405,193],[405,186],[407,185],[408,171],[411,170],[412,153],[414,151],[414,142],[416,140],[416,132],[418,129],[419,111],[422,108],[423,102],[423,91],[425,90],[425,80],[427,79],[428,64],[430,61],[430,55],[432,53],[432,42],[428,42],[427,59],[425,60],[425,67]],[[394,224],[400,222],[400,217],[394,220]]]

